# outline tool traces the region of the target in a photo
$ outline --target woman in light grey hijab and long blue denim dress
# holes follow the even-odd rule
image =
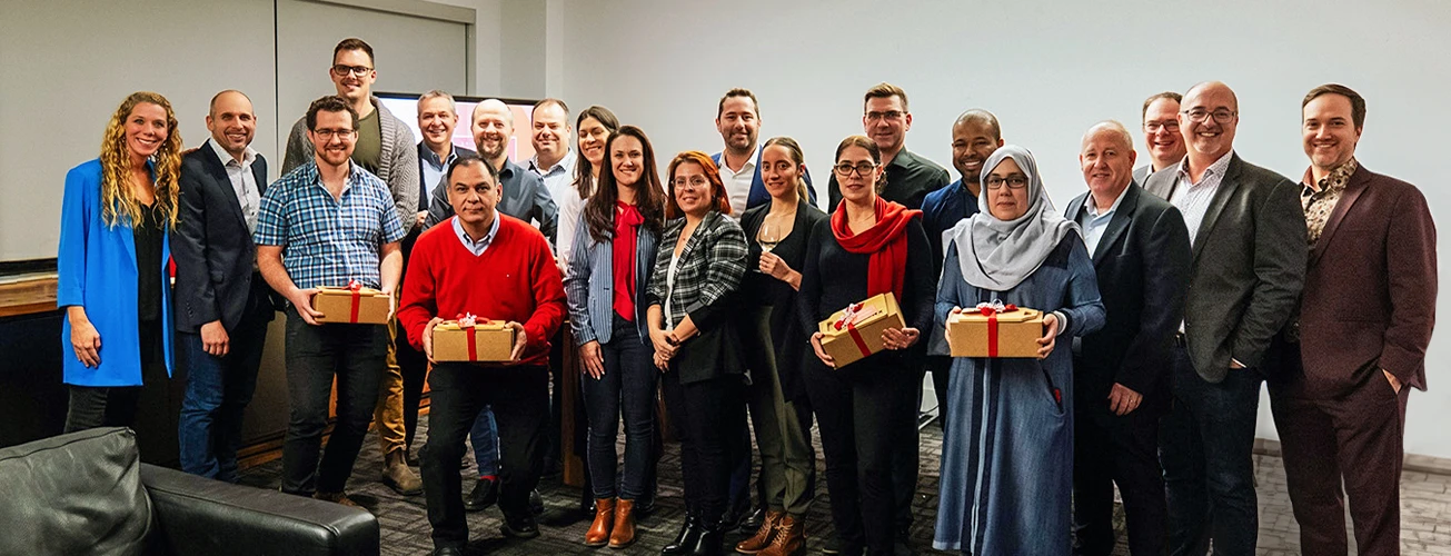
[[[1056,338],[1098,330],[1104,308],[1078,225],[1053,210],[1033,155],[1007,145],[984,168],[984,212],[948,232],[936,325],[1001,302],[1043,311],[1045,334],[1039,359],[953,360],[933,547],[1068,555],[1072,354]]]

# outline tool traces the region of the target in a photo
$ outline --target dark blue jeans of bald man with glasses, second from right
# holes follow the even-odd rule
[[[1254,485],[1257,369],[1230,369],[1210,383],[1188,353],[1174,348],[1174,405],[1159,428],[1159,462],[1168,499],[1170,553],[1254,555],[1259,510]]]

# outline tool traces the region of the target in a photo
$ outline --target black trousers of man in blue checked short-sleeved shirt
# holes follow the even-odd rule
[[[373,422],[377,385],[387,364],[387,327],[311,325],[295,308],[287,308],[284,351],[290,420],[281,444],[281,491],[299,495],[342,492],[363,449],[367,425]],[[322,450],[334,377],[337,422]]]

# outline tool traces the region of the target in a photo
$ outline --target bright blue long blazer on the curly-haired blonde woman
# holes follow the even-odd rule
[[[55,305],[86,308],[100,334],[100,366],[87,369],[71,348],[71,321],[62,318],[64,382],[75,386],[141,386],[141,335],[136,331],[136,241],[131,225],[102,219],[100,160],[65,174],[61,245],[57,251]],[[161,338],[171,375],[171,229],[161,241]]]

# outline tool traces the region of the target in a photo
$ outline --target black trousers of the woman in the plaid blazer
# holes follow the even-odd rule
[[[662,376],[665,406],[681,441],[685,508],[717,523],[730,501],[730,446],[746,420],[746,385],[739,375],[681,383],[675,369]]]

